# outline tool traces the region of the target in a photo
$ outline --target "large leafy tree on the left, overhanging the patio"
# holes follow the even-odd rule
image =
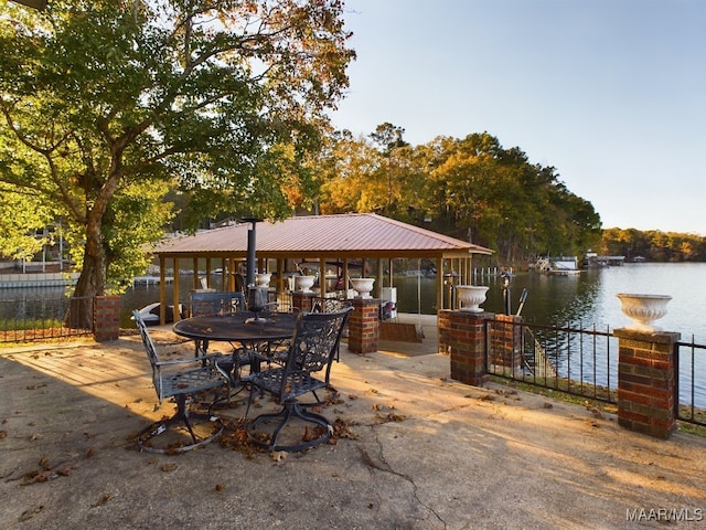
[[[77,297],[135,274],[169,187],[190,225],[287,214],[354,59],[340,0],[0,2],[0,182],[68,223]]]

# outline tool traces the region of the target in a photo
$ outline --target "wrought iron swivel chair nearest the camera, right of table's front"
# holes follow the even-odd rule
[[[331,364],[338,351],[341,331],[352,309],[300,314],[285,365],[255,372],[247,378],[250,395],[245,412],[246,420],[253,398],[258,392],[274,395],[281,405],[279,412],[260,414],[247,426],[248,436],[256,445],[270,451],[296,452],[313,447],[331,437],[331,423],[323,415],[307,409],[321,404],[317,390],[330,386]],[[318,372],[323,372],[323,377],[317,378]],[[301,403],[299,398],[309,392],[317,401]],[[313,426],[313,432],[307,428],[307,436],[292,443],[278,443],[279,435],[292,418],[301,420],[308,427]],[[268,421],[275,422],[275,427],[269,435],[263,436],[257,427]]]

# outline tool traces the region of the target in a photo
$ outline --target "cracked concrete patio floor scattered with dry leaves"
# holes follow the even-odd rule
[[[706,439],[450,381],[432,332],[366,356],[343,347],[323,414],[349,437],[285,457],[135,451],[173,407],[157,406],[137,336],[0,349],[0,528],[704,528]]]

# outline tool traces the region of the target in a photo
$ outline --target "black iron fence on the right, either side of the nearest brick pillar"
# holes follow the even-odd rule
[[[486,321],[488,373],[618,403],[618,338],[606,328]],[[677,418],[706,425],[706,346],[677,342]]]

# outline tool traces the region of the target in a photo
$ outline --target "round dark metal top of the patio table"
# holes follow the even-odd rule
[[[197,340],[233,342],[288,339],[295,332],[298,314],[265,312],[255,315],[237,311],[228,315],[210,315],[180,320],[173,326],[176,335]]]

